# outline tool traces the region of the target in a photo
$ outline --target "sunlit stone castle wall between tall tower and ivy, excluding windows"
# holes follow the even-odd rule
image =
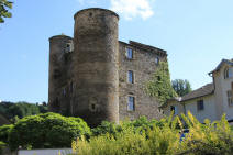
[[[126,48],[133,49],[133,58],[126,57]],[[142,115],[148,119],[159,119],[162,113],[158,110],[158,102],[148,97],[145,91],[145,84],[152,78],[158,64],[155,58],[166,60],[166,53],[162,49],[147,48],[133,43],[119,44],[119,112],[120,120],[134,120]],[[127,81],[127,71],[132,70],[134,75],[134,84]],[[134,97],[135,109],[129,110],[129,96]]]

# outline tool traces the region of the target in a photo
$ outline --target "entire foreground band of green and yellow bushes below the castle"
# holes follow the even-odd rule
[[[189,132],[181,136],[184,130]],[[190,112],[162,120],[142,117],[90,129],[79,118],[44,113],[0,126],[0,152],[73,147],[73,155],[232,155],[233,132],[225,115],[200,123]]]

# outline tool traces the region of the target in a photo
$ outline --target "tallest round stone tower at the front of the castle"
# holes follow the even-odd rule
[[[86,9],[75,14],[73,114],[95,126],[119,122],[116,13]]]

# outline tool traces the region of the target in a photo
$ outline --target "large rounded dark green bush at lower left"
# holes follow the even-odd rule
[[[56,113],[31,115],[16,122],[9,135],[11,150],[70,147],[71,141],[90,134],[86,122]]]

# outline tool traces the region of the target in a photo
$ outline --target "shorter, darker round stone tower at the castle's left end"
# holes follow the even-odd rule
[[[71,43],[73,38],[66,35],[49,38],[48,108],[53,112],[67,109],[67,103],[63,101],[60,95],[69,75],[64,55]]]

